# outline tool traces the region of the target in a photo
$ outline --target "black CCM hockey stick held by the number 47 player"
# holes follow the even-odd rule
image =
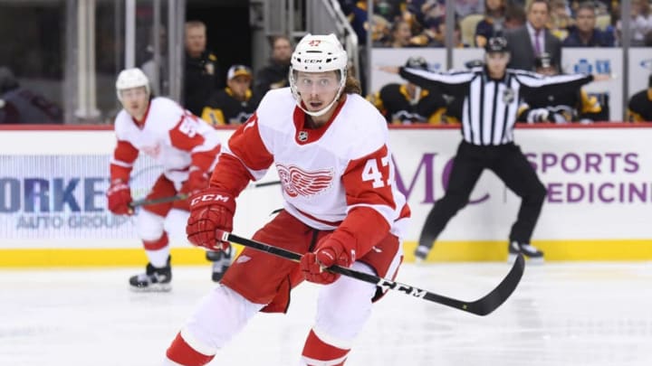
[[[290,259],[294,262],[299,262],[302,258],[302,255],[299,253],[295,253],[283,248],[273,247],[260,241],[241,238],[227,231],[216,230],[216,235],[218,238],[221,238],[220,240],[222,241],[232,241],[236,244],[241,244],[245,247],[261,250],[273,254],[277,257]],[[369,282],[370,284],[374,284],[385,290],[397,290],[409,296],[414,296],[417,298],[432,301],[437,304],[450,306],[457,310],[463,310],[467,313],[486,315],[491,314],[495,309],[498,308],[498,306],[503,305],[505,300],[507,300],[507,298],[512,295],[514,289],[516,289],[516,286],[518,286],[519,282],[521,281],[521,277],[523,277],[524,267],[525,259],[523,259],[523,255],[519,254],[516,260],[514,260],[512,269],[509,271],[507,276],[503,278],[503,281],[489,294],[473,302],[466,302],[451,297],[437,295],[415,286],[404,285],[387,278],[369,275],[367,273],[359,272],[347,267],[332,266],[328,267],[327,270],[343,276],[353,277],[364,282]]]

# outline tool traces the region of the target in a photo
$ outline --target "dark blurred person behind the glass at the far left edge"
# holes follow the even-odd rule
[[[62,108],[41,94],[25,89],[14,72],[0,66],[0,124],[60,124]]]

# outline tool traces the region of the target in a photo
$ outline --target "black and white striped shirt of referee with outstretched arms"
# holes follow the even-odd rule
[[[493,80],[484,67],[441,73],[401,67],[400,76],[421,88],[439,89],[455,98],[464,98],[462,136],[473,145],[512,143],[519,101],[529,93],[579,89],[593,80],[592,75],[585,74],[544,77],[512,69],[505,70],[503,79]]]

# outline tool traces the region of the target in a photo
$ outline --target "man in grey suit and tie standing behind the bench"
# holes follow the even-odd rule
[[[533,0],[527,8],[525,25],[505,33],[512,54],[509,68],[534,70],[534,60],[543,52],[551,55],[554,64],[561,65],[561,41],[546,28],[549,16],[548,1]]]

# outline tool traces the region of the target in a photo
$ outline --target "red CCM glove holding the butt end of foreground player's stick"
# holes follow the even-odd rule
[[[190,196],[190,217],[187,221],[187,239],[198,247],[226,250],[227,241],[219,241],[216,230],[233,230],[235,199],[214,187]]]

